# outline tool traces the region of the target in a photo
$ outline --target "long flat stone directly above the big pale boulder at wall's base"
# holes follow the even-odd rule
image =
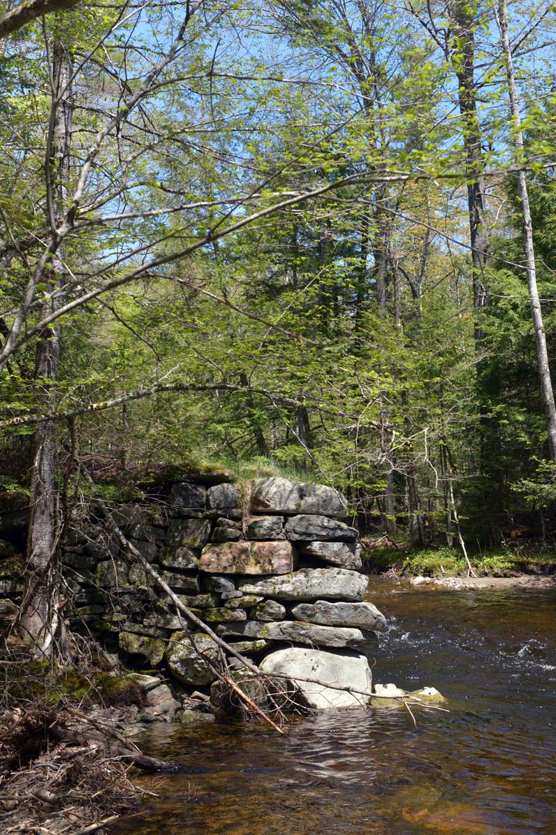
[[[287,641],[292,644],[337,646],[341,648],[356,647],[365,641],[358,629],[305,624],[297,620],[279,620],[272,623],[263,623],[260,620],[245,620],[244,623],[226,625],[224,634],[241,635],[244,638]]]

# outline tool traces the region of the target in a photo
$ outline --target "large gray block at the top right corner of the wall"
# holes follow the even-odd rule
[[[288,478],[257,478],[251,490],[255,513],[347,515],[346,499],[325,484],[305,484]]]

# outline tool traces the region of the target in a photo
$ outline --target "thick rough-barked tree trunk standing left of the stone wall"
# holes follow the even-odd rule
[[[71,141],[72,61],[63,43],[53,46],[53,90],[45,161],[47,183],[47,223],[55,238],[58,221],[63,215],[69,174]],[[48,292],[63,287],[63,251],[58,250],[49,274]],[[58,295],[49,298],[42,315],[62,303]],[[39,408],[50,412],[56,406],[60,331],[46,328],[38,340],[35,356],[35,379],[39,392]],[[28,520],[25,590],[19,619],[23,637],[38,656],[67,656],[63,616],[60,611],[58,546],[62,520],[58,497],[58,445],[56,424],[44,420],[38,424],[33,438],[33,463],[30,483],[31,501]]]

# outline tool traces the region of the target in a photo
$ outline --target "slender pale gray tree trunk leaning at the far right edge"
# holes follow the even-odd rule
[[[499,0],[497,23],[502,39],[503,53],[506,59],[506,75],[508,77],[508,94],[510,100],[510,111],[512,114],[514,144],[521,156],[523,153],[523,131],[521,128],[521,114],[519,112],[518,94],[513,73],[512,49],[508,36],[508,12],[506,0]],[[523,215],[523,251],[525,253],[525,266],[527,269],[527,285],[529,301],[531,302],[531,313],[533,315],[533,326],[537,342],[537,363],[538,376],[540,377],[541,397],[543,400],[544,413],[548,433],[548,454],[551,461],[556,461],[556,406],[554,405],[554,394],[550,367],[548,365],[548,350],[546,346],[546,333],[543,325],[543,311],[541,310],[538,298],[537,271],[535,267],[535,251],[533,245],[533,222],[529,208],[529,195],[527,180],[523,170],[518,171],[518,195],[521,201]]]

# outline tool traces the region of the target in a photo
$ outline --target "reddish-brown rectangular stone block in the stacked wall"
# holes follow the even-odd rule
[[[203,549],[200,569],[209,574],[286,574],[294,568],[289,542],[227,542]]]

